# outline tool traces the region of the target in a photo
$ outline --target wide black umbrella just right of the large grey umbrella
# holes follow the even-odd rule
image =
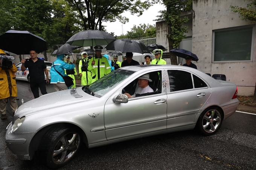
[[[109,43],[106,47],[107,50],[115,50],[121,52],[137,52],[140,54],[150,53],[148,48],[142,43],[133,39],[118,39]]]

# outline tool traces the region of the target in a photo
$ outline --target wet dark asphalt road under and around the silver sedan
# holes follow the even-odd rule
[[[17,81],[18,106],[34,97],[27,82]],[[52,85],[47,92],[54,92]],[[12,121],[0,123],[0,170],[47,170],[40,159],[21,161],[14,158],[4,138]],[[256,115],[236,112],[226,119],[213,136],[195,131],[163,134],[130,140],[98,148],[82,145],[76,158],[59,170],[255,170]]]

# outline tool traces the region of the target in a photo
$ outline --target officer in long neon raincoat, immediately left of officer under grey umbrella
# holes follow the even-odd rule
[[[87,52],[81,53],[82,60],[79,61],[79,75],[81,76],[81,85],[90,85],[92,83],[91,72],[88,71],[89,59],[87,57]]]

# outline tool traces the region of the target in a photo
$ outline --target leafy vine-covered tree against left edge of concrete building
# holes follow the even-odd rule
[[[192,9],[192,0],[163,0],[166,10],[160,11],[156,21],[166,21],[168,25],[169,49],[178,48],[182,39],[186,38],[187,27],[183,24],[188,22],[187,17],[180,17],[181,11]],[[177,65],[177,57],[170,54],[171,63]]]

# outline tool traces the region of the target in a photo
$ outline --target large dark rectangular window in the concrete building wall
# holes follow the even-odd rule
[[[213,31],[213,62],[251,61],[253,26]]]

